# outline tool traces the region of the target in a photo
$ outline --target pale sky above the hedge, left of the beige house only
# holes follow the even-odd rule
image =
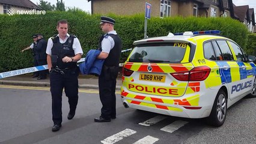
[[[34,4],[39,4],[40,0],[30,0]],[[56,6],[57,0],[44,0],[47,2],[50,2],[50,4],[54,4]],[[60,0],[59,0],[60,1]],[[88,2],[87,0],[62,0],[64,2],[66,7],[78,7],[81,8],[84,11],[89,11],[91,13],[91,2]]]

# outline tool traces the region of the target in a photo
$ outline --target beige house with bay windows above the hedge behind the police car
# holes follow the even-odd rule
[[[132,15],[145,13],[145,1],[141,0],[88,0],[92,14],[114,13]],[[234,17],[232,0],[148,0],[152,5],[151,16],[206,16]]]

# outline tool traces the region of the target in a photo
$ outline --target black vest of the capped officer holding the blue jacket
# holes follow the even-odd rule
[[[107,34],[102,36],[99,41],[99,50],[102,51],[102,40],[105,37],[112,37],[115,41],[115,46],[113,49],[110,50],[108,58],[105,59],[104,64],[108,67],[117,66],[119,65],[120,56],[121,56],[121,49],[122,49],[122,42],[121,38],[115,34]]]

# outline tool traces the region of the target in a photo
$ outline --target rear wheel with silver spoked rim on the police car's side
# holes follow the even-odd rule
[[[215,102],[212,107],[212,112],[207,118],[209,125],[220,127],[224,124],[227,115],[227,94],[219,89],[216,95]]]

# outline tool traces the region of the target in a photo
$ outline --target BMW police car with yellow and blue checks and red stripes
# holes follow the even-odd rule
[[[135,41],[123,65],[124,107],[224,124],[227,108],[256,97],[255,64],[220,31],[198,31]]]

